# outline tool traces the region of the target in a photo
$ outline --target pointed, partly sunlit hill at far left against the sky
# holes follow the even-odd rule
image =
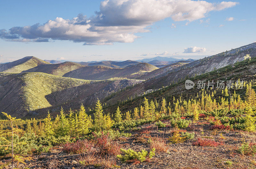
[[[27,56],[13,62],[0,64],[0,72],[21,73],[24,70],[31,69],[41,64],[50,64],[50,63],[44,60],[38,59],[34,56]]]

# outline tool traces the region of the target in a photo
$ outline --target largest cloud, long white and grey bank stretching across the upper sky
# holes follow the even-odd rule
[[[204,18],[210,11],[221,11],[236,4],[196,0],[104,0],[100,11],[91,18],[79,14],[73,19],[57,17],[44,24],[2,29],[0,38],[19,42],[70,40],[84,45],[129,43],[138,38],[135,33],[149,32],[147,26],[164,18],[189,23]]]

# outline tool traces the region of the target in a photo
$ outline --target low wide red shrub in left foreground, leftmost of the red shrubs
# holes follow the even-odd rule
[[[77,140],[75,143],[66,143],[63,145],[63,151],[69,154],[79,154],[90,152],[93,144],[88,140]]]

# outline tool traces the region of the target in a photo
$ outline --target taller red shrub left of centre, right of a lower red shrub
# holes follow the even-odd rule
[[[108,138],[108,134],[103,134],[101,137],[96,138],[95,147],[102,155],[117,155],[120,153],[120,146],[111,141],[111,139]]]

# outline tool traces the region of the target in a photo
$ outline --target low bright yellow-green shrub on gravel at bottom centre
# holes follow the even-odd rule
[[[116,157],[119,158],[122,162],[126,162],[129,160],[139,160],[140,162],[143,162],[146,160],[146,157],[152,158],[155,155],[155,149],[153,148],[148,155],[148,151],[146,150],[141,150],[139,152],[136,152],[132,149],[124,150],[120,149],[124,155],[117,155]]]

